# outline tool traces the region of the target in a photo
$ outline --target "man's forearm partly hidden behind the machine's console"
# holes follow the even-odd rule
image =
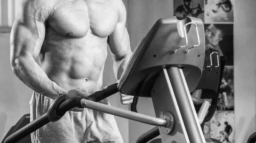
[[[113,72],[116,80],[119,80],[122,76],[123,71],[125,70],[126,65],[131,58],[132,52],[126,54],[122,59],[115,60],[113,63]]]

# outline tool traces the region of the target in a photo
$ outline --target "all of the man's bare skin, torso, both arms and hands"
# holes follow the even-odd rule
[[[10,37],[12,70],[49,98],[86,97],[102,87],[108,45],[120,79],[132,54],[125,22],[122,0],[23,0]],[[120,94],[122,104],[132,99]]]

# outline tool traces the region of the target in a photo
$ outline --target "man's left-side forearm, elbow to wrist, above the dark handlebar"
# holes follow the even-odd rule
[[[12,70],[15,75],[32,90],[49,98],[56,98],[58,93],[66,90],[51,81],[44,70],[35,62],[32,56],[19,56],[12,61]]]

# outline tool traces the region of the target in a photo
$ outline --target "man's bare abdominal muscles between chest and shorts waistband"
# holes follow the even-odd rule
[[[39,64],[52,81],[65,90],[77,87],[93,93],[102,87],[107,58],[107,37],[47,40],[41,48]]]

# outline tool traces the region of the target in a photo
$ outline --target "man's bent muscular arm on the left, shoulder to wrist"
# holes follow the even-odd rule
[[[10,36],[11,66],[15,75],[32,90],[54,99],[65,90],[51,81],[35,62],[45,36],[49,11],[46,0],[23,0]]]

